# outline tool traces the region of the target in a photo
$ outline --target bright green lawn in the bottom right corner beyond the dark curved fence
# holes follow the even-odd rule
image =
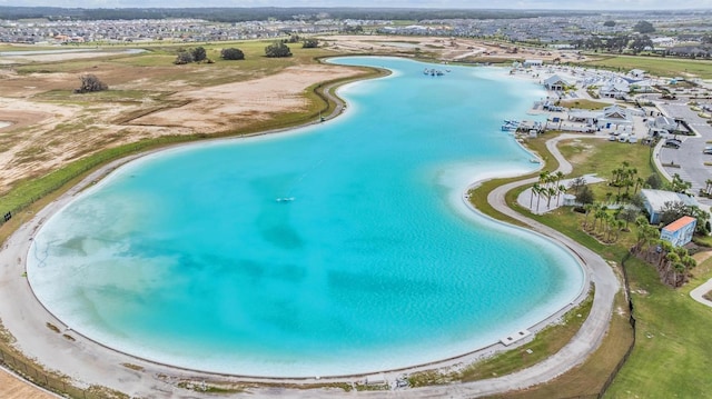
[[[712,392],[712,308],[690,291],[712,278],[712,260],[694,270],[691,283],[673,290],[655,270],[631,261],[631,290],[637,318],[636,346],[607,398],[709,398]]]

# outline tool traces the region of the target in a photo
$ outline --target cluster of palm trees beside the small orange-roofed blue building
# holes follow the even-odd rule
[[[645,217],[635,220],[637,226],[636,242],[633,253],[653,265],[663,283],[673,288],[688,281],[690,270],[698,262],[683,247],[673,247],[670,241],[660,239],[660,231],[647,223]]]

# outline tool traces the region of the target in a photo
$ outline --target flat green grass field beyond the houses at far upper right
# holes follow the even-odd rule
[[[645,56],[597,56],[589,54],[594,59],[581,62],[583,66],[605,68],[627,72],[631,69],[642,69],[647,73],[659,77],[685,77],[712,79],[712,61],[690,60],[678,58],[645,57]]]

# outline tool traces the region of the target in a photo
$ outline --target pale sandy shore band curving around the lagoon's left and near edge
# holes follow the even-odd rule
[[[221,140],[231,140],[231,139],[221,139]],[[188,144],[179,144],[190,146]],[[177,146],[178,147],[178,146]],[[142,367],[145,370],[152,370],[154,373],[162,373],[168,376],[175,376],[176,378],[187,378],[187,379],[212,379],[215,377],[219,378],[219,373],[210,373],[202,372],[199,370],[189,370],[182,369],[179,367],[170,366],[170,365],[161,365],[154,361],[145,360],[138,358],[136,356],[131,356],[128,353],[121,353],[115,349],[102,346],[98,342],[92,341],[91,339],[78,335],[76,331],[70,330],[70,326],[65,325],[61,320],[57,319],[49,310],[47,310],[39,300],[34,297],[29,283],[27,283],[27,278],[23,277],[24,272],[24,260],[27,259],[27,253],[30,248],[30,242],[36,233],[36,231],[41,227],[41,225],[48,220],[55,212],[59,211],[66,205],[71,202],[76,194],[82,191],[85,188],[95,184],[95,182],[101,177],[108,174],[117,167],[131,161],[137,158],[145,157],[150,153],[155,153],[157,151],[150,151],[147,153],[142,153],[139,156],[129,157],[128,159],[117,160],[111,162],[100,170],[97,170],[95,173],[88,176],[83,179],[78,186],[73,187],[70,191],[62,194],[59,199],[50,203],[48,207],[38,212],[32,220],[24,223],[11,238],[8,240],[6,247],[0,252],[0,265],[4,267],[0,270],[0,288],[2,288],[3,293],[11,293],[16,299],[14,303],[10,301],[2,301],[0,303],[0,315],[3,316],[2,320],[6,323],[6,328],[12,331],[16,336],[22,337],[19,340],[19,348],[31,358],[38,359],[40,362],[44,363],[50,369],[65,371],[71,370],[73,377],[77,381],[87,381],[87,383],[99,383],[108,387],[112,387],[115,389],[120,389],[125,392],[131,392],[131,395],[147,395],[150,391],[136,391],[132,392],[129,388],[134,387],[138,381],[136,380],[136,371],[126,369],[120,365],[130,363],[138,365]],[[488,180],[492,178],[491,176],[484,176],[482,179],[473,186],[481,183],[482,181]],[[466,191],[465,191],[466,192]],[[469,209],[475,212],[478,212],[475,208],[472,207],[469,201],[466,200],[465,194],[463,193],[463,201],[467,205]],[[493,219],[494,220],[494,219]],[[496,221],[497,223],[501,223]],[[518,228],[518,227],[517,227]],[[522,228],[518,228],[522,229]],[[525,229],[522,229],[525,230]],[[531,232],[531,231],[530,231]],[[17,263],[13,266],[9,266],[10,259],[17,259]],[[8,267],[9,266],[9,267]],[[583,300],[587,295],[589,279],[587,273],[584,273],[585,282],[582,285],[582,289],[580,291],[576,300],[566,305],[564,308],[555,311],[554,313],[546,317],[541,322],[532,326],[530,331],[536,332],[552,322],[556,321],[561,318],[566,311],[571,308],[575,307],[581,300]],[[18,306],[21,303],[21,306]],[[62,333],[68,333],[76,338],[76,341],[68,341],[62,339],[60,335],[51,331],[47,328],[46,323],[50,322],[61,330]],[[20,332],[16,332],[20,331]],[[26,338],[28,337],[28,338]],[[528,340],[522,340],[520,343],[527,342]],[[356,382],[362,381],[367,377],[373,376],[384,376],[388,380],[395,380],[398,376],[403,373],[411,373],[415,371],[424,371],[428,369],[448,369],[448,368],[458,368],[462,365],[471,363],[482,358],[488,357],[497,351],[515,348],[516,345],[511,347],[505,347],[503,343],[497,342],[484,348],[476,348],[471,352],[463,353],[461,356],[436,360],[428,363],[415,365],[412,367],[398,368],[394,370],[374,370],[373,372],[358,373],[358,375],[346,375],[346,376],[334,376],[334,377],[320,377],[320,378],[278,378],[278,377],[256,377],[256,376],[233,376],[228,378],[228,380],[239,380],[239,381],[263,381],[263,382],[279,382],[279,383],[324,383],[324,382]],[[47,359],[47,353],[67,353],[68,357],[57,358],[51,356],[51,359]],[[97,360],[97,359],[106,359],[106,360]],[[103,368],[97,368],[100,366],[99,362],[105,363],[101,365]],[[108,370],[111,370],[108,372]],[[122,373],[127,373],[125,377],[120,377]],[[97,380],[89,382],[89,377],[97,377]],[[119,376],[119,377],[116,377]],[[132,377],[132,378],[131,378]],[[111,382],[113,379],[122,380],[127,379],[130,381],[129,387],[118,388],[115,387]],[[140,380],[144,380],[142,378]],[[156,383],[156,382],[154,382]],[[141,383],[145,385],[145,383]],[[171,388],[175,388],[171,386]],[[178,392],[174,392],[178,395]]]

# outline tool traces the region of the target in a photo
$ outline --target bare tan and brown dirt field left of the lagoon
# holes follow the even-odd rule
[[[236,130],[275,114],[306,111],[307,88],[358,73],[314,62],[255,80],[233,73],[236,81],[229,82],[229,72],[208,64],[177,70],[98,62],[88,72],[100,76],[110,90],[76,94],[82,67],[72,72],[0,73],[0,121],[12,123],[0,127],[0,193],[20,179],[109,146],[161,134]],[[228,82],[198,87],[185,77],[171,79],[169,72]]]

